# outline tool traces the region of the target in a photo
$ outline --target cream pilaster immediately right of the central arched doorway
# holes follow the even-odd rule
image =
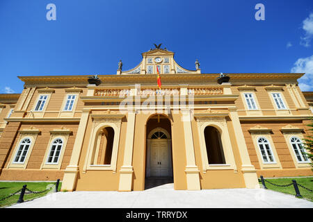
[[[188,190],[200,190],[199,169],[195,165],[195,149],[193,147],[193,132],[191,128],[190,110],[182,110],[182,121],[184,123],[184,139],[186,151],[186,179]]]

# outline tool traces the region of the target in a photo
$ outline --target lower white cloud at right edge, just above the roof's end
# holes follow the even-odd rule
[[[313,91],[313,56],[296,60],[291,72],[305,73],[298,79],[299,87],[302,91]]]

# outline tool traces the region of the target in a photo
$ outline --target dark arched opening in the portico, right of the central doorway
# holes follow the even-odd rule
[[[223,145],[220,140],[220,132],[213,126],[204,129],[205,146],[207,147],[207,159],[209,164],[225,164]]]

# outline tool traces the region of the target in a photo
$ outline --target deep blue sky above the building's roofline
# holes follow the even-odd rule
[[[312,0],[0,0],[0,93],[22,92],[17,76],[116,74],[154,43],[186,69],[198,58],[202,73],[305,72],[313,91]]]

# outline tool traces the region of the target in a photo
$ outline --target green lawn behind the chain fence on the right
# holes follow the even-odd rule
[[[304,187],[307,187],[308,189],[313,190],[313,178],[277,178],[277,179],[265,178],[265,180],[268,180],[269,182],[272,182],[275,185],[289,185],[292,183],[292,180],[296,180],[298,184],[303,185]],[[261,185],[261,187],[263,187],[261,179],[259,179],[259,184]],[[294,185],[291,185],[289,187],[276,187],[266,181],[265,181],[265,185],[268,189],[271,189],[273,191],[279,191],[285,194],[296,195],[296,191],[294,190]],[[306,189],[300,187],[299,185],[298,185],[298,188],[303,198],[313,201],[312,191],[307,191]]]

